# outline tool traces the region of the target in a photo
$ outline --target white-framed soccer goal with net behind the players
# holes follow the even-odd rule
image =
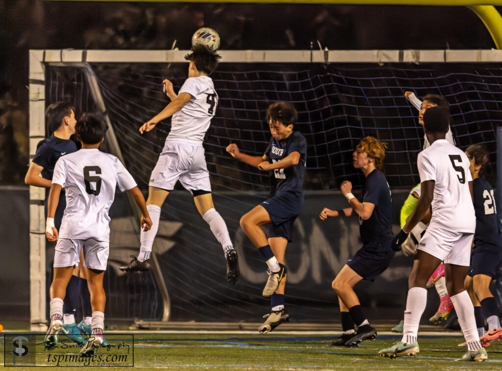
[[[141,135],[139,127],[169,102],[162,80],[177,91],[187,77],[186,51],[32,51],[30,70],[31,151],[47,135],[45,108],[70,100],[77,116],[101,112],[109,120],[103,150],[119,156],[140,188],[148,191],[150,173],[170,130],[170,120]],[[188,192],[176,188],[162,208],[161,229],[151,272],[121,274],[139,248],[138,227],[127,197],[117,195],[111,209],[112,241],[106,272],[107,318],[238,322],[267,313],[261,297],[266,281],[263,262],[242,234],[239,218],[269,194],[268,173],[237,162],[226,152],[236,143],[248,154],[263,155],[270,140],[267,107],[294,103],[300,131],[308,143],[304,189],[306,207],[288,245],[288,305],[300,321],[329,320],[337,306],[330,282],[359,247],[358,226],[319,223],[322,207],[336,202],[341,181],[360,187],[361,174],[351,157],[358,141],[374,136],[388,143],[384,172],[391,189],[407,190],[419,182],[417,155],[424,142],[418,110],[405,98],[439,94],[450,103],[451,129],[461,149],[483,143],[495,172],[495,128],[502,123],[502,54],[499,51],[222,51],[211,77],[219,95],[216,116],[204,148],[216,209],[225,219],[240,255],[241,277],[228,286],[221,248],[198,215]],[[400,192],[397,192],[398,194]],[[32,187],[32,200],[43,200]],[[402,198],[401,198],[402,199]],[[335,201],[333,201],[335,200]],[[38,201],[39,202],[39,201]],[[44,241],[43,207],[31,204],[32,322],[45,320],[46,282],[53,247]],[[399,211],[401,205],[394,205]],[[397,259],[380,283],[364,286],[363,304],[402,305],[385,295],[389,282],[410,261]],[[38,269],[37,269],[38,267]],[[370,294],[372,290],[373,293]],[[376,294],[375,294],[376,293]],[[371,298],[371,299],[369,299]],[[396,304],[399,303],[399,304]],[[262,313],[263,312],[263,313]],[[257,316],[258,314],[258,316]]]

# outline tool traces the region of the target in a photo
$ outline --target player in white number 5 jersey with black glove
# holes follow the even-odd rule
[[[474,307],[463,285],[469,269],[476,225],[469,159],[445,139],[450,124],[448,110],[431,107],[424,113],[423,119],[431,146],[418,155],[421,194],[405,226],[394,237],[393,249],[400,248],[431,204],[432,217],[418,245],[408,281],[410,290],[403,338],[391,347],[380,350],[379,354],[396,357],[415,355],[420,351],[417,333],[427,303],[427,280],[439,263],[444,261],[446,285],[467,342],[467,352],[459,360],[479,362],[485,360],[487,355],[476,330]]]

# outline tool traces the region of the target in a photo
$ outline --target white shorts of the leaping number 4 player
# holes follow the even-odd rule
[[[176,181],[188,191],[211,192],[204,147],[167,141],[150,176],[151,187],[172,191]]]

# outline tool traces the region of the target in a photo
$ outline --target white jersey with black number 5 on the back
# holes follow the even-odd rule
[[[474,233],[476,217],[469,191],[472,177],[465,153],[439,139],[418,154],[417,165],[420,182],[435,181],[430,225]]]

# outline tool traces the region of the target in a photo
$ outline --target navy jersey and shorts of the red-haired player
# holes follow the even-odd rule
[[[363,245],[347,261],[347,265],[364,280],[373,281],[374,277],[387,269],[395,254],[391,248],[394,237],[391,190],[381,170],[374,169],[366,176],[361,202],[373,204],[374,209],[369,219],[359,217]]]

